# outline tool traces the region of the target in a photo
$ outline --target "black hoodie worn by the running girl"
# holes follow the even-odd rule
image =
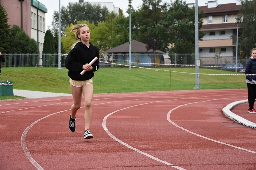
[[[92,64],[92,71],[86,71],[83,75],[80,72],[83,71],[83,65],[89,64],[95,57],[99,57],[97,47],[89,43],[88,48],[82,42],[78,42],[65,59],[65,67],[69,70],[68,76],[78,81],[91,79],[94,76],[93,72],[99,69],[99,60]]]

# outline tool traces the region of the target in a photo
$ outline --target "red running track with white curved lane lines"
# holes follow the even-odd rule
[[[96,94],[90,140],[84,108],[69,131],[71,97],[1,101],[0,169],[255,170],[255,129],[222,113],[245,99],[246,89]]]

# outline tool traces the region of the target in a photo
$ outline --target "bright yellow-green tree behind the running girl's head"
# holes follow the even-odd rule
[[[77,24],[86,23],[89,26],[91,38],[90,42],[102,50],[108,50],[123,43],[128,42],[127,23],[122,11],[119,15],[111,12],[106,14],[105,21],[99,22],[97,26],[88,21],[78,21]],[[73,43],[77,42],[74,33],[71,33],[71,27],[67,26],[64,35],[61,38],[63,49],[65,52],[70,50]]]

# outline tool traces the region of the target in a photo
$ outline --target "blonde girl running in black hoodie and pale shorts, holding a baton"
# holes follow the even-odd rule
[[[75,132],[76,113],[81,107],[82,92],[84,95],[85,106],[85,132],[84,139],[93,138],[90,132],[90,122],[92,117],[91,101],[93,96],[92,77],[94,72],[99,68],[99,61],[97,60],[92,65],[89,65],[95,57],[99,56],[98,48],[89,42],[90,31],[87,24],[73,25],[71,32],[76,33],[78,42],[73,44],[73,48],[65,59],[65,67],[69,70],[70,88],[74,104],[71,106],[71,114],[69,116],[69,130]],[[81,75],[80,72],[86,72]]]

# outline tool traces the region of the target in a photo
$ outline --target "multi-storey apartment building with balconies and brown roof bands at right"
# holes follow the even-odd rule
[[[216,51],[222,60],[232,63],[236,57],[236,40],[232,36],[237,34],[237,16],[241,3],[218,4],[217,0],[208,1],[205,6],[199,7],[204,11],[202,28],[205,35],[199,41],[199,55],[210,56]]]

